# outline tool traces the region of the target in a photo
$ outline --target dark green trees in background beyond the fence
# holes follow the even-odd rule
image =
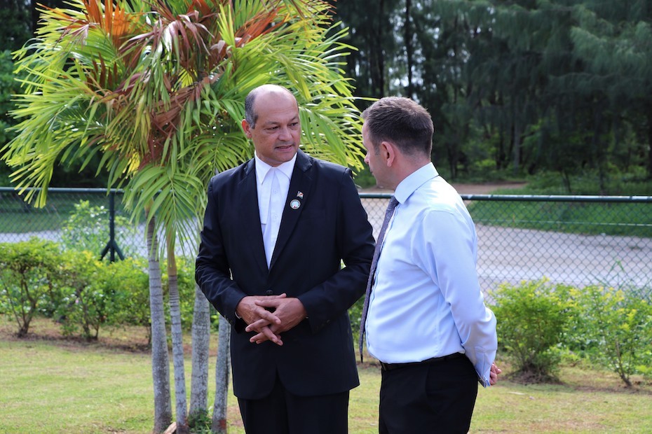
[[[0,40],[16,49],[35,2],[4,1],[15,13]],[[367,1],[330,3],[355,47],[343,59],[355,94],[426,106],[445,175],[552,171],[572,192],[571,175],[584,172],[598,193],[622,173],[652,176],[648,1],[383,0],[373,14]]]

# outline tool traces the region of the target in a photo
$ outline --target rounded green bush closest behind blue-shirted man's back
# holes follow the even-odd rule
[[[556,379],[559,344],[575,306],[571,288],[547,280],[504,283],[491,293],[497,318],[498,344],[515,365],[522,381]]]

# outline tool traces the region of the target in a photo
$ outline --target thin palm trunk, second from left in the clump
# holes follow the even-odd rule
[[[172,329],[172,363],[175,367],[175,410],[177,434],[188,432],[186,419],[186,372],[184,367],[184,339],[181,329],[181,307],[179,307],[179,284],[177,282],[177,261],[172,242],[174,234],[168,234],[168,291],[170,298],[170,324]]]

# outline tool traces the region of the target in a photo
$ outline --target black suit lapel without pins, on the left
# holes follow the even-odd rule
[[[240,180],[237,190],[240,191],[239,202],[233,213],[234,218],[240,221],[242,228],[243,243],[250,246],[252,255],[256,259],[261,272],[268,272],[267,260],[265,259],[265,248],[263,234],[260,229],[260,213],[258,209],[258,190],[256,186],[256,171],[254,159],[247,162],[245,176]]]

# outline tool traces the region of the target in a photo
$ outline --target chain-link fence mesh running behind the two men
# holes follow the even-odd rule
[[[80,232],[91,232],[97,251],[107,257],[144,255],[144,225],[127,223],[122,193],[112,192],[114,214],[104,189],[50,188],[47,206],[35,209],[13,189],[0,188],[0,242],[40,237],[70,243]],[[390,194],[360,197],[377,235]],[[575,286],[652,288],[652,196],[462,197],[477,228],[484,290],[542,278]]]

